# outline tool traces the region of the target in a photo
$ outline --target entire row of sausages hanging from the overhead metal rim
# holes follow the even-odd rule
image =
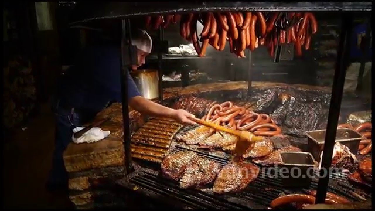
[[[275,47],[294,43],[296,56],[302,56],[302,46],[309,50],[311,35],[317,32],[317,20],[311,12],[206,12],[146,17],[146,26],[152,29],[166,28],[169,23],[180,21],[180,35],[193,43],[199,57],[205,56],[208,45],[219,51],[229,42],[229,51],[238,58],[245,58],[245,49],[254,51],[260,45],[268,47],[270,56]],[[298,21],[296,21],[298,20]],[[200,38],[196,22],[203,30]],[[280,26],[281,27],[280,27]],[[199,41],[202,44],[199,44]]]

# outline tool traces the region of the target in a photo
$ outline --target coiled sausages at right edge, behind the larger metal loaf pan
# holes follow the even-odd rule
[[[371,122],[365,122],[353,127],[350,124],[340,124],[337,128],[348,128],[355,130],[356,132],[362,134],[363,139],[359,143],[358,150],[359,154],[366,155],[372,150],[372,124]]]

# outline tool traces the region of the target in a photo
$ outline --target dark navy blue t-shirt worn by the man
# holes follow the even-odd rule
[[[127,97],[141,95],[127,72]],[[97,44],[83,50],[76,65],[68,69],[58,86],[58,95],[69,105],[99,112],[108,102],[121,102],[120,47]]]

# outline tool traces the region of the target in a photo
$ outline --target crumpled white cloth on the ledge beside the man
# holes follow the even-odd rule
[[[84,127],[76,127],[73,129],[73,133],[77,133],[78,131],[82,130]],[[105,139],[107,136],[110,135],[110,131],[103,131],[101,128],[93,127],[86,133],[84,133],[81,137],[76,139],[74,135],[72,136],[72,140],[74,143],[93,143]]]

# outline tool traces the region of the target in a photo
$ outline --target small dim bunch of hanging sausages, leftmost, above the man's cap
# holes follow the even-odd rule
[[[157,16],[146,16],[146,29],[157,30],[160,27],[164,29],[169,26],[169,24],[177,24],[180,22],[181,15],[157,15]]]

